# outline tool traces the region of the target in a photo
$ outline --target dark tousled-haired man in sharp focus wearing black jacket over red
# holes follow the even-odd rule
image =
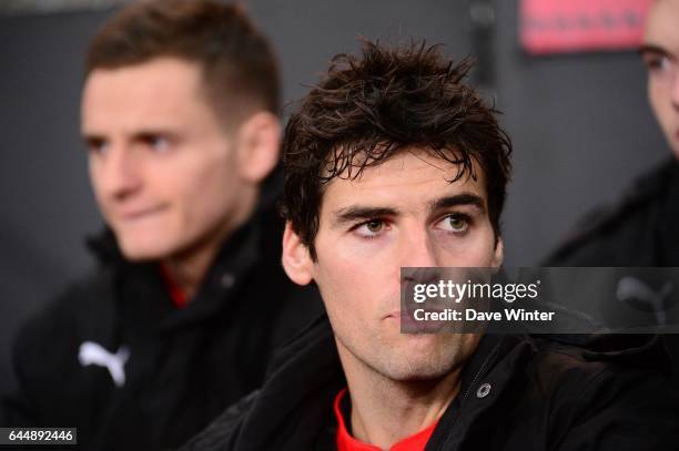
[[[402,334],[401,267],[498,267],[511,146],[439,49],[338,55],[284,137],[283,264],[327,317],[184,449],[673,450],[657,350]]]

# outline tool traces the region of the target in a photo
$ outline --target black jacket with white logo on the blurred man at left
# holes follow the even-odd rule
[[[280,226],[270,209],[236,230],[182,309],[158,265],[125,262],[111,234],[94,242],[101,268],[20,330],[20,392],[4,399],[0,426],[77,427],[87,450],[185,442],[259,387],[273,348],[322,310],[283,273]],[[124,381],[81,360],[83,344],[129,352]]]

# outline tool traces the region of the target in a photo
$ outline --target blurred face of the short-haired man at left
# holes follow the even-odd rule
[[[234,140],[192,62],[94,70],[81,126],[97,202],[129,259],[214,247],[249,208]]]

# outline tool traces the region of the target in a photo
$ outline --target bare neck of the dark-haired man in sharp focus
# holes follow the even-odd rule
[[[460,388],[462,367],[439,379],[408,382],[362,365],[343,367],[352,400],[352,435],[381,449],[438,421]]]

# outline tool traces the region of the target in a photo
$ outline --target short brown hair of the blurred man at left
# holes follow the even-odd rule
[[[116,69],[159,57],[201,65],[206,96],[220,116],[251,107],[278,111],[278,69],[268,40],[240,6],[215,0],[150,0],[131,4],[94,35],[85,69]]]

